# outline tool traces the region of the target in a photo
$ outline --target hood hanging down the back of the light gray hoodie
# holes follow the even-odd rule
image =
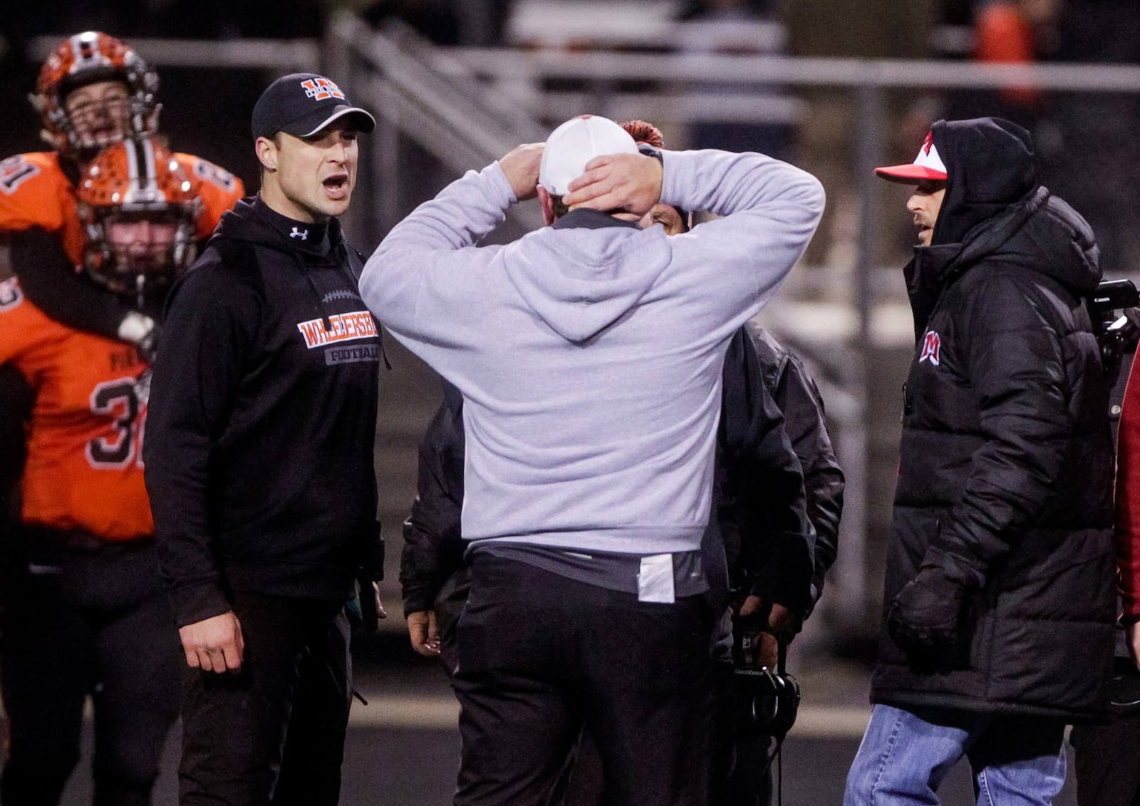
[[[507,246],[503,260],[535,314],[567,341],[581,342],[652,287],[673,257],[667,237],[661,227],[641,229],[596,210],[572,210]]]

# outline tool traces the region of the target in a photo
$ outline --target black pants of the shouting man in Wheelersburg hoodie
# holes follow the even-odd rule
[[[348,701],[342,695],[348,681],[347,650],[337,648],[332,657],[337,642],[331,633],[343,634],[343,602],[235,592],[233,605],[245,640],[242,669],[225,674],[187,669],[185,676],[180,803],[334,806],[348,724]],[[320,693],[321,689],[341,694]],[[294,705],[314,701],[335,702],[337,716],[319,724],[302,717],[306,726],[291,735]],[[312,770],[303,780],[292,773],[283,776],[290,791],[279,788],[277,801],[287,738],[290,759],[308,756],[329,766]]]

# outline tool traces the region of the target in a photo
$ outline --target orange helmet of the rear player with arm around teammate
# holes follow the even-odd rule
[[[108,133],[93,135],[67,111],[67,95],[97,81],[121,81],[128,97],[115,109],[121,120]],[[68,156],[85,156],[125,136],[152,135],[158,127],[161,105],[155,100],[158,74],[124,42],[99,31],[68,36],[40,68],[30,97],[40,113],[41,137]]]

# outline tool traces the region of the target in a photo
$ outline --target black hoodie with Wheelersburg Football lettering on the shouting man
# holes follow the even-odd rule
[[[323,229],[239,202],[168,300],[144,456],[179,626],[228,591],[348,597],[381,576],[380,332]]]

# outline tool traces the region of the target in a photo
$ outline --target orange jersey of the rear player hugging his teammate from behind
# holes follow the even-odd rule
[[[174,154],[202,200],[196,237],[209,237],[221,214],[234,206],[245,185],[229,171],[190,154]],[[57,234],[74,266],[83,259],[83,231],[75,212],[75,187],[55,152],[17,154],[0,160],[0,231],[38,227]]]

